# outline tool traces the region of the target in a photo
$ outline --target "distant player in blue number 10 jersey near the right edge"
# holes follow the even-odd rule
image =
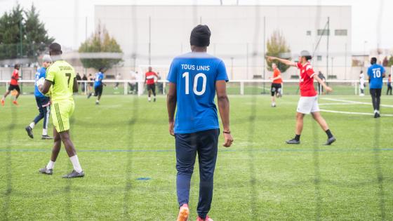
[[[380,95],[383,85],[382,79],[385,77],[385,68],[377,64],[377,58],[371,58],[371,66],[368,67],[367,74],[373,100],[374,118],[378,118],[380,117]]]

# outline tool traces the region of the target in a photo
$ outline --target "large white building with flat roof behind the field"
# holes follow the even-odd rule
[[[314,69],[326,76],[328,55],[329,75],[357,78],[351,74],[351,6],[95,6],[98,22],[121,45],[125,67],[149,65],[149,60],[153,66],[170,65],[189,51],[192,28],[206,24],[212,32],[208,53],[225,61],[231,79],[270,76],[264,68],[265,42],[276,30],[293,59],[302,50],[314,52],[319,42]],[[294,68],[284,78],[292,75]]]

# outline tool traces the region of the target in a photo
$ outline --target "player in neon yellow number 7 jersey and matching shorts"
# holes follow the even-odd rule
[[[63,143],[74,170],[62,178],[81,178],[85,174],[69,136],[69,118],[74,113],[75,107],[73,96],[74,93],[78,92],[75,69],[68,62],[62,60],[60,44],[51,43],[49,55],[51,55],[53,64],[46,72],[44,83],[39,84],[39,91],[44,95],[51,91],[51,109],[55,110],[55,113],[52,114],[54,126],[53,149],[51,160],[44,168],[39,169],[39,172],[48,175],[53,174],[53,167],[56,159],[58,159],[61,143]]]

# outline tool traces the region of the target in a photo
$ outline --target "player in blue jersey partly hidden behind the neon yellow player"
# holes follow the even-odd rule
[[[44,128],[42,129],[42,140],[46,139],[53,139],[50,136],[48,136],[48,122],[49,122],[49,115],[51,114],[51,98],[43,95],[37,86],[37,81],[39,79],[45,79],[46,77],[46,69],[51,65],[51,56],[49,55],[44,55],[42,58],[42,67],[38,69],[36,72],[35,76],[35,86],[34,86],[34,95],[36,97],[36,104],[39,109],[39,114],[34,118],[32,123],[29,124],[25,128],[27,135],[29,135],[30,138],[34,138],[33,136],[33,128],[34,126],[41,121],[41,119],[44,119]]]

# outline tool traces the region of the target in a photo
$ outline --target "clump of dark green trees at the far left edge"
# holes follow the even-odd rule
[[[53,39],[48,37],[33,5],[25,12],[17,4],[10,12],[0,17],[0,60],[36,59],[52,42]]]

